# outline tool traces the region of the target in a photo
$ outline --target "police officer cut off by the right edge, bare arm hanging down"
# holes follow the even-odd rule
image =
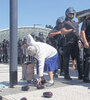
[[[84,42],[84,82],[90,82],[90,16],[86,18],[81,27],[81,36]]]

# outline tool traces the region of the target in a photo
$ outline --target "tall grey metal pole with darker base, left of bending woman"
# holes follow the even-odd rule
[[[10,0],[10,87],[17,84],[17,0]]]

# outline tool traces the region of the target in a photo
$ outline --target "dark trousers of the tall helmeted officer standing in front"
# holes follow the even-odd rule
[[[79,54],[79,47],[78,43],[69,43],[64,46],[63,49],[63,56],[64,56],[64,74],[65,76],[69,76],[69,59],[70,55],[73,53],[74,58],[76,59],[77,69],[78,69],[78,76],[82,77],[82,66],[80,61],[80,54]]]

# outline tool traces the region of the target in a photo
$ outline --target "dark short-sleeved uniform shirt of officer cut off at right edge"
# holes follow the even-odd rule
[[[81,30],[85,31],[87,41],[90,41],[90,18],[84,20]]]

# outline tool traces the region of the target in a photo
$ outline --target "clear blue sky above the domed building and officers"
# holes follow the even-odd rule
[[[9,28],[10,0],[0,1],[0,29]],[[56,19],[65,16],[68,7],[76,11],[89,9],[90,0],[18,0],[18,26],[54,27]]]

